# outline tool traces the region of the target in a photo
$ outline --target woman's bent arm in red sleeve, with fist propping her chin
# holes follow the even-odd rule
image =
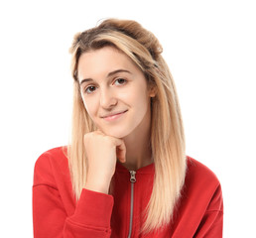
[[[70,196],[73,194],[65,197],[66,189],[68,194],[72,190],[71,185],[68,188],[64,186],[67,180],[63,175],[69,171],[67,165],[62,171],[66,162],[59,161],[62,155],[46,153],[36,163],[33,187],[36,238],[110,237],[113,197],[108,194],[108,189],[117,156],[120,161],[125,161],[125,146],[122,140],[100,132],[88,133],[84,140],[88,175],[77,204],[72,204]]]

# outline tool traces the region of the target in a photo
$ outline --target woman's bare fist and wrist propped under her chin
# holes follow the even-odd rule
[[[126,147],[123,140],[94,131],[84,135],[84,147],[88,161],[85,188],[108,193],[116,161],[125,163]]]

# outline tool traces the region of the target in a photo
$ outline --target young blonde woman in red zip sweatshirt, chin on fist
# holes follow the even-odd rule
[[[79,33],[70,146],[35,166],[35,237],[222,237],[218,179],[186,156],[156,37],[109,19]]]

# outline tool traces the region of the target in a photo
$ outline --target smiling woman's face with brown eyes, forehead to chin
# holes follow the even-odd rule
[[[77,72],[85,109],[103,133],[124,138],[150,124],[154,92],[125,54],[113,47],[84,53]]]

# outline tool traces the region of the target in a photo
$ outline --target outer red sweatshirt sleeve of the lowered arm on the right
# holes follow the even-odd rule
[[[194,237],[221,238],[223,228],[223,199],[220,185],[214,192]]]

